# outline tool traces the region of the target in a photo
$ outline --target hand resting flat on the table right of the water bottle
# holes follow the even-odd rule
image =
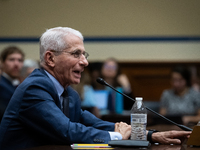
[[[152,141],[161,144],[181,144],[185,138],[189,138],[190,131],[165,131],[152,134]]]

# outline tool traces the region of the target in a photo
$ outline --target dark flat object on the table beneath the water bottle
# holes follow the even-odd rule
[[[108,142],[112,147],[149,147],[149,141],[142,140],[112,140]]]

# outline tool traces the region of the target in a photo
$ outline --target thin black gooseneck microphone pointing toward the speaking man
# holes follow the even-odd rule
[[[123,96],[125,96],[125,97],[127,97],[128,99],[130,99],[130,100],[132,100],[132,101],[134,101],[135,102],[135,100],[133,99],[133,98],[131,98],[131,97],[129,97],[129,96],[127,96],[126,94],[124,94],[124,93],[121,93],[121,92],[119,92],[118,90],[116,90],[114,87],[112,87],[111,85],[109,85],[106,81],[104,81],[102,78],[97,78],[97,80],[96,80],[98,83],[100,83],[100,84],[102,84],[102,85],[105,85],[105,86],[108,86],[108,87],[110,87],[111,89],[113,89],[114,91],[116,91],[116,92],[118,92],[118,93],[120,93],[120,94],[122,94]],[[146,107],[146,106],[145,106]],[[166,117],[164,117],[163,115],[161,115],[161,114],[159,114],[159,113],[157,113],[157,112],[155,112],[154,110],[152,110],[152,109],[150,109],[150,108],[148,108],[148,107],[146,107],[146,109],[147,110],[149,110],[150,112],[152,112],[152,113],[154,113],[154,114],[156,114],[157,116],[159,116],[160,118],[162,118],[162,119],[164,119],[164,120],[166,120],[166,121],[168,121],[168,122],[170,122],[170,123],[172,123],[172,124],[174,124],[174,125],[176,125],[176,126],[178,126],[179,128],[181,128],[182,130],[184,130],[184,131],[192,131],[192,129],[191,128],[189,128],[189,127],[186,127],[186,126],[184,126],[184,125],[181,125],[181,124],[178,124],[178,123],[175,123],[175,122],[173,122],[172,120],[170,120],[170,119],[168,119],[168,118],[166,118]]]

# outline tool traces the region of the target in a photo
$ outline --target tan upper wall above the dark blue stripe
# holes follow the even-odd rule
[[[69,26],[84,36],[200,36],[199,0],[0,0],[0,36]]]

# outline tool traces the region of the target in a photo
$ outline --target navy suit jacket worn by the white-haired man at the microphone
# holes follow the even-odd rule
[[[0,149],[22,149],[41,145],[108,143],[114,123],[102,121],[81,110],[80,98],[67,88],[70,117],[60,109],[53,82],[36,69],[18,86],[0,126]]]

